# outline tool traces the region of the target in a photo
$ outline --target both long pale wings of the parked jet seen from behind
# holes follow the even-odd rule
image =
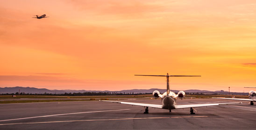
[[[107,100],[100,100],[100,101],[112,102],[112,103],[118,103],[118,104],[128,104],[128,105],[152,107],[152,108],[162,108],[162,105],[156,105],[156,104],[140,104],[140,103],[129,103],[129,102],[118,102],[118,101],[107,101]],[[220,103],[220,104],[241,104],[241,103]],[[215,105],[220,105],[220,104],[189,104],[189,105],[176,105],[176,109],[192,108],[192,107],[204,107],[204,106],[215,106]]]

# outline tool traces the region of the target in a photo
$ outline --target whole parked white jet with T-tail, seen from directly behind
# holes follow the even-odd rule
[[[166,109],[171,112],[172,109],[183,109],[183,108],[190,108],[190,114],[195,114],[194,110],[195,107],[204,107],[204,106],[216,106],[220,104],[241,104],[241,103],[219,103],[219,104],[188,104],[188,105],[177,105],[177,97],[180,99],[183,99],[185,97],[184,91],[179,91],[176,95],[174,92],[170,91],[169,86],[169,78],[170,77],[200,77],[200,76],[188,76],[188,75],[135,75],[135,76],[160,76],[160,77],[166,77],[167,78],[167,91],[163,94],[160,94],[159,91],[153,91],[153,97],[155,99],[161,97],[162,105],[158,104],[141,104],[141,103],[130,103],[130,102],[118,102],[118,101],[108,101],[108,100],[100,100],[105,102],[112,102],[112,103],[118,103],[118,104],[129,104],[129,105],[137,105],[137,106],[143,106],[145,107],[144,114],[149,113],[149,108],[159,108],[159,109]],[[195,110],[197,111],[197,110]]]

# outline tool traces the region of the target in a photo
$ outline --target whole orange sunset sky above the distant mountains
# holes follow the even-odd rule
[[[46,14],[44,19],[34,15]],[[256,0],[0,0],[0,87],[256,86]]]

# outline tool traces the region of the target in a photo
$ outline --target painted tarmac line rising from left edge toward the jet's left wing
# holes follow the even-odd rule
[[[121,109],[121,110],[130,110],[130,109]],[[66,113],[66,114],[56,114],[56,115],[37,116],[37,117],[24,117],[24,118],[16,118],[16,119],[0,120],[0,122],[4,122],[4,121],[13,121],[13,120],[21,120],[21,119],[30,119],[30,118],[38,118],[38,117],[53,117],[53,116],[61,116],[61,115],[82,114],[82,113],[95,113],[95,112],[107,112],[107,111],[120,111],[120,110],[86,111],[86,112]]]

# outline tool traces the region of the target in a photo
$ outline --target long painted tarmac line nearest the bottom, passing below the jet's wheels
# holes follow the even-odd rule
[[[207,116],[194,116],[194,117],[207,117]],[[0,125],[35,124],[35,123],[63,123],[63,122],[88,122],[88,121],[113,121],[113,120],[133,120],[133,119],[160,119],[160,118],[178,118],[178,117],[145,117],[145,118],[120,118],[120,119],[98,119],[98,120],[71,120],[71,121],[31,122],[31,123],[3,123],[3,124],[0,124]],[[188,117],[180,117],[180,118],[188,118]]]

